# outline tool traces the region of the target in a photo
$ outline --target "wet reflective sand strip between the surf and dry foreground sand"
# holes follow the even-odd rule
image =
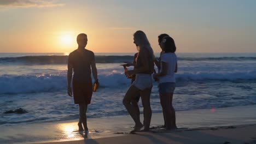
[[[158,135],[172,136],[179,133],[189,133],[190,135],[191,132],[189,131],[234,131],[242,127],[246,127],[246,129],[256,129],[255,110],[256,105],[177,111],[176,121],[179,129],[174,131],[174,133],[173,131],[167,131],[170,133],[166,133],[166,131],[162,131],[157,128],[159,125],[164,123],[162,113],[153,113],[150,127],[155,127],[155,129],[152,130],[152,133],[141,134],[155,137]],[[141,121],[143,121],[143,115],[141,115]],[[84,142],[84,140],[96,140],[101,143],[101,141],[104,141],[105,139],[112,141],[112,139],[121,139],[118,138],[120,136],[134,136],[129,134],[134,125],[130,116],[88,118],[90,131],[89,139],[85,139],[84,134],[78,133],[77,122],[78,120],[51,123],[15,124],[9,126],[0,125],[0,129],[2,129],[0,131],[0,143],[62,143],[65,141]],[[254,134],[256,137],[255,131]],[[191,135],[194,135],[194,133],[191,133]],[[218,135],[218,133],[216,135]],[[124,139],[128,139],[127,137]],[[135,140],[138,139],[138,137],[136,137],[134,138]],[[139,137],[139,139],[141,139],[141,136]]]

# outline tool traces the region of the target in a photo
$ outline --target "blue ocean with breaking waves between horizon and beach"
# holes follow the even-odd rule
[[[95,53],[100,87],[88,118],[128,115],[123,97],[131,84],[120,66],[134,53]],[[0,125],[45,123],[79,118],[67,95],[68,53],[0,53]],[[256,53],[176,53],[176,111],[256,104]],[[155,54],[159,57],[159,53]],[[129,69],[132,69],[131,67]],[[158,83],[150,104],[161,112]],[[139,106],[142,104],[139,101]],[[22,108],[28,113],[4,113]]]

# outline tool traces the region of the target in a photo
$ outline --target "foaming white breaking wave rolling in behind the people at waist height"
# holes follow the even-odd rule
[[[130,85],[130,79],[127,79],[123,72],[112,70],[102,72],[105,74],[98,75],[101,87],[118,88]],[[176,74],[176,80],[179,81],[196,81],[196,80],[255,80],[256,71],[232,72],[180,72]],[[0,76],[0,94],[3,93],[36,93],[36,92],[56,92],[66,89],[67,77],[66,71],[59,75],[42,74],[42,75],[1,75]]]

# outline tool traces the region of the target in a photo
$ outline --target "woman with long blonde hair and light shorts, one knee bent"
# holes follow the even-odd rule
[[[152,89],[152,74],[154,72],[154,52],[146,34],[137,31],[133,34],[133,43],[138,50],[137,62],[133,70],[126,72],[126,75],[136,74],[135,81],[125,94],[123,104],[135,122],[134,131],[149,131],[152,111],[150,107],[150,94]],[[144,111],[144,129],[139,119],[139,113],[131,102],[136,99],[137,95],[141,96]]]

